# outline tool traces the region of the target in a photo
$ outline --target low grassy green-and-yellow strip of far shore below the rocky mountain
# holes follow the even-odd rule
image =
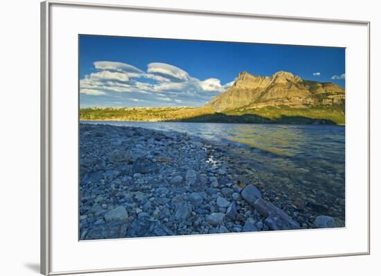
[[[223,113],[216,113],[207,107],[86,108],[80,109],[80,120],[345,125],[345,111],[341,105],[310,108],[283,106],[253,109],[248,107],[224,111]]]

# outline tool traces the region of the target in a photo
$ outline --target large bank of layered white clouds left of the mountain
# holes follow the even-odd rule
[[[126,101],[124,104],[144,102],[146,106],[154,106],[166,102],[163,105],[197,106],[229,89],[236,81],[222,85],[214,77],[199,80],[181,68],[159,62],[148,64],[147,72],[121,62],[94,62],[94,66],[97,71],[80,80],[80,93],[120,98]]]

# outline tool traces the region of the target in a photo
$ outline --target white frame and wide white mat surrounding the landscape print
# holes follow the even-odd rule
[[[100,17],[103,20],[97,20]],[[369,21],[62,1],[42,2],[41,19],[42,274],[237,264],[370,253]],[[256,32],[250,35],[245,33],[245,28],[240,31],[234,28],[242,26],[242,22],[249,24]],[[135,24],[133,29],[123,28],[132,26],[132,23]],[[221,29],[212,32],[216,26],[221,26]],[[262,26],[263,30],[255,26]],[[236,31],[233,33],[229,28]],[[285,33],[287,28],[294,32]],[[293,35],[311,28],[314,37]],[[346,227],[78,241],[78,34],[82,33],[346,47]],[[356,113],[353,112],[355,107]],[[310,248],[305,248],[307,242]],[[256,250],[252,250],[253,247],[242,249],[245,245],[254,244]],[[239,254],[234,250],[236,247],[241,249]],[[118,257],[118,252],[123,252],[123,248],[130,250],[128,260]],[[166,248],[165,252],[161,250],[159,254],[160,248]],[[202,252],[197,248],[203,248]],[[224,248],[232,250],[226,252]]]

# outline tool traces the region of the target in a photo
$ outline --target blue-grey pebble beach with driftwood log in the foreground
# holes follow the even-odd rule
[[[343,226],[324,204],[280,197],[241,164],[230,143],[80,123],[80,239]]]

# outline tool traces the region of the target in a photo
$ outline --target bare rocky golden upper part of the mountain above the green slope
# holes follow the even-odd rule
[[[239,73],[236,82],[213,98],[207,108],[216,112],[263,107],[329,107],[345,104],[345,89],[333,82],[302,80],[290,72],[271,77]]]

